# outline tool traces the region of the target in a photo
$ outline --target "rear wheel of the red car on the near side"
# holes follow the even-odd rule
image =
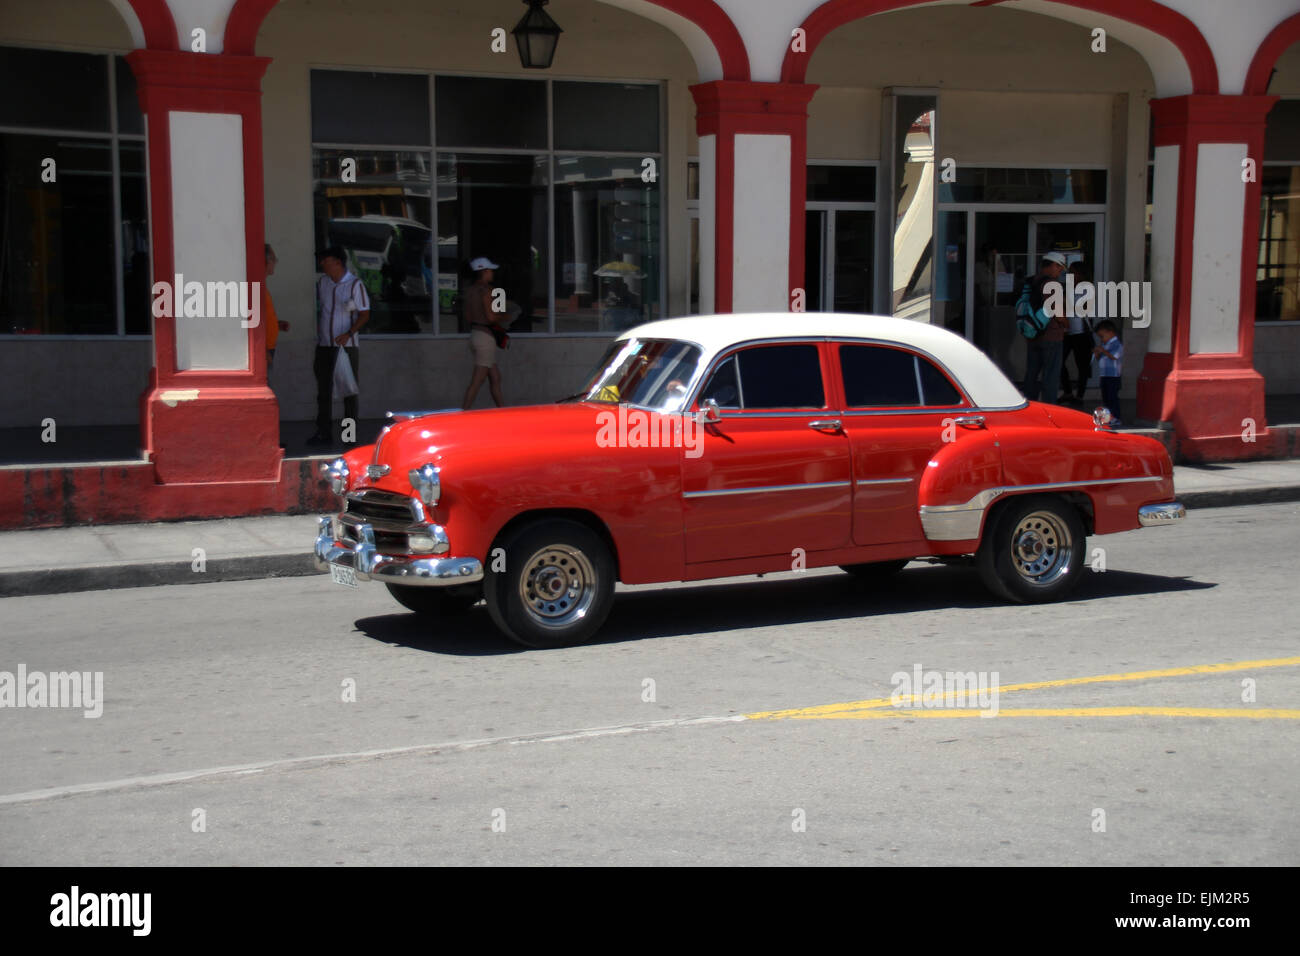
[[[1060,601],[1079,583],[1087,529],[1050,494],[1011,498],[984,528],[975,564],[984,587],[1017,604]]]

